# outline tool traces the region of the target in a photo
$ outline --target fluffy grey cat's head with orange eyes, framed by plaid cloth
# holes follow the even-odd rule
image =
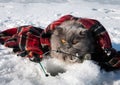
[[[52,57],[65,62],[83,62],[94,51],[94,39],[91,32],[79,23],[67,21],[54,30],[51,50]]]

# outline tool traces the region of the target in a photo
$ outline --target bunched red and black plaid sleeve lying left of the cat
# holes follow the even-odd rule
[[[42,32],[43,29],[33,26],[11,28],[0,33],[0,42],[13,50],[19,49],[17,54],[22,57],[42,58],[42,55],[50,49],[49,38],[42,38]]]

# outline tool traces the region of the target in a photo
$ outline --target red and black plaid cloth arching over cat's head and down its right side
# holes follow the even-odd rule
[[[48,27],[45,29],[44,33],[46,34],[52,34],[53,30],[61,25],[63,22],[68,20],[76,20],[80,23],[84,28],[90,30],[94,36],[94,39],[96,40],[96,50],[98,51],[98,54],[93,54],[93,57],[99,56],[98,58],[93,58],[93,60],[102,62],[106,65],[106,63],[109,63],[110,68],[118,69],[120,68],[120,54],[116,56],[116,50],[112,48],[111,40],[108,35],[108,32],[104,28],[104,26],[95,19],[89,19],[89,18],[79,18],[74,17],[72,15],[65,15],[58,20],[52,22]],[[109,50],[112,54],[110,57],[108,57],[108,54],[106,53],[106,50]],[[108,58],[107,58],[108,57]],[[100,59],[100,60],[99,60]],[[108,65],[107,65],[108,66]],[[106,68],[106,66],[105,66]],[[105,69],[104,68],[104,69]],[[109,69],[109,68],[108,68]]]

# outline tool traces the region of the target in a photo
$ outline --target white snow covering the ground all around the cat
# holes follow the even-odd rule
[[[21,25],[44,28],[65,14],[99,20],[113,47],[120,50],[119,0],[0,0],[0,30]],[[45,77],[38,63],[11,52],[0,45],[0,85],[120,85],[120,71],[101,71],[93,61],[65,65],[55,59],[44,60],[41,63],[49,71],[58,67],[66,71]]]

